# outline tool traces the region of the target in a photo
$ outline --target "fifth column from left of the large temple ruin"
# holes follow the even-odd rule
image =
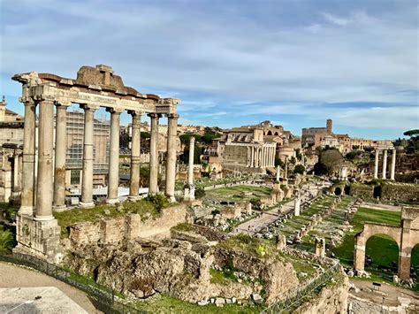
[[[119,203],[119,118],[122,110],[107,108],[106,111],[110,112],[108,198],[106,203]]]

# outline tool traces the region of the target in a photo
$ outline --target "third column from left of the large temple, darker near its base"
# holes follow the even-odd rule
[[[67,152],[67,106],[56,103],[56,146],[54,164],[54,211],[65,210],[65,155]]]

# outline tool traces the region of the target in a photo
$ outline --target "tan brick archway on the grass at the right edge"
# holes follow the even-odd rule
[[[364,270],[366,243],[371,236],[376,234],[386,234],[396,241],[399,246],[398,275],[401,280],[408,280],[411,252],[419,243],[419,208],[403,208],[400,226],[365,223],[362,232],[355,235],[354,270]]]

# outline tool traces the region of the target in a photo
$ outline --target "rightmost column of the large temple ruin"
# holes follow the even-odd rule
[[[176,181],[176,139],[178,138],[179,114],[167,114],[167,157],[166,157],[166,196],[175,201],[174,190]]]

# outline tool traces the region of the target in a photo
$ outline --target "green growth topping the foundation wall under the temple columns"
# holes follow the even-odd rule
[[[117,206],[98,205],[94,208],[75,208],[70,211],[54,212],[53,214],[61,227],[61,234],[67,236],[67,227],[75,223],[95,222],[101,218],[117,218],[127,213],[139,214],[144,219],[160,216],[160,211],[157,210],[156,205],[147,199],[141,199],[137,202],[125,202]]]

